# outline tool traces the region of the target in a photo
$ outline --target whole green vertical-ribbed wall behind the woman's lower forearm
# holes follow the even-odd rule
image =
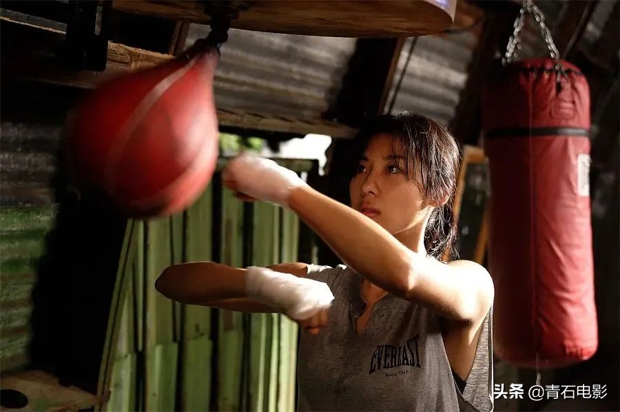
[[[309,161],[295,164],[303,169],[298,172],[316,169]],[[153,285],[175,262],[215,259],[246,267],[296,261],[299,226],[292,212],[242,203],[218,183],[183,214],[130,222],[127,230],[137,236],[127,245],[133,251],[121,255],[132,260],[125,266],[120,322],[112,327],[118,338],[105,409],[293,410],[296,323],[272,313],[179,305]]]

